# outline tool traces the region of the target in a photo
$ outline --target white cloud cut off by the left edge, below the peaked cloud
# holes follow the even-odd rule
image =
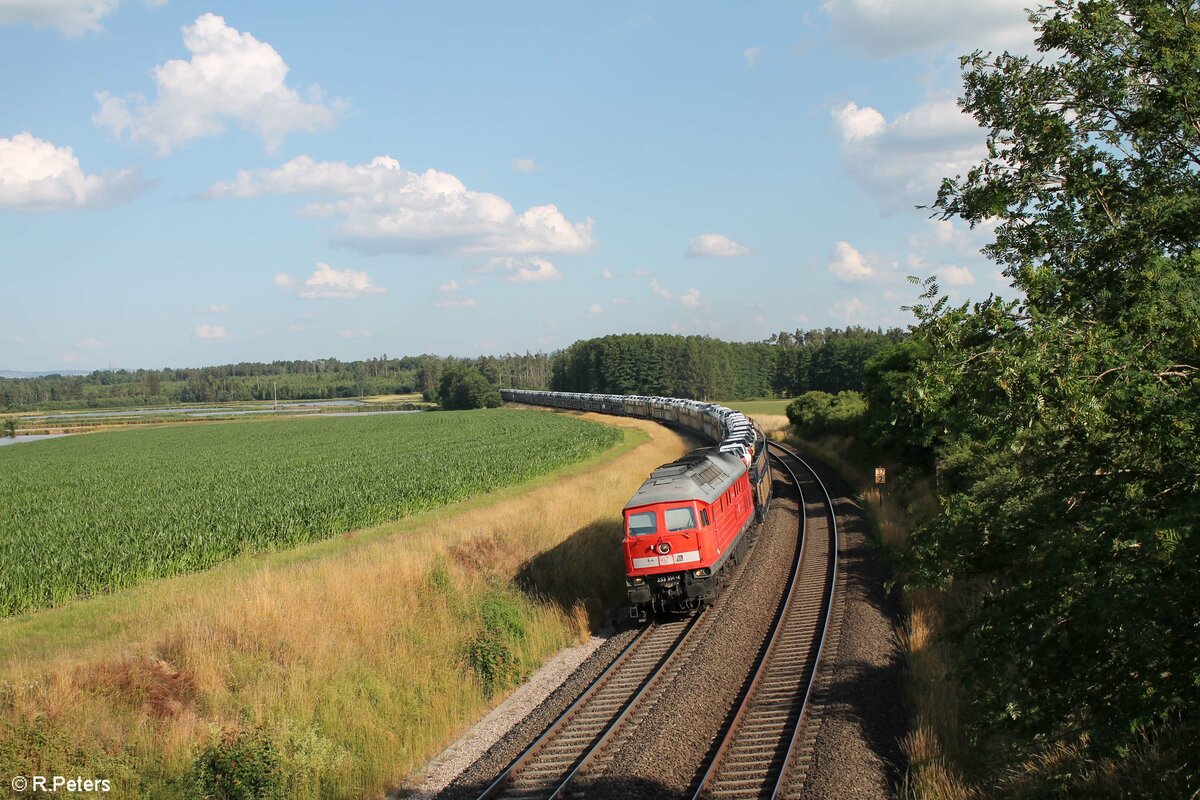
[[[89,175],[71,148],[34,134],[0,139],[0,211],[59,211],[132,200],[150,188],[133,167]]]

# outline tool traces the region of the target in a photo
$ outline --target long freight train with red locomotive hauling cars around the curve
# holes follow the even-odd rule
[[[625,504],[625,587],[630,615],[690,613],[716,600],[744,555],[751,525],[772,495],[767,438],[733,409],[632,395],[502,389],[510,403],[658,420],[710,441],[659,467]]]

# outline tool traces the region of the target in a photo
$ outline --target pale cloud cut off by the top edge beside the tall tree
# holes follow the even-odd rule
[[[834,34],[875,58],[904,53],[1024,49],[1028,0],[826,0]]]

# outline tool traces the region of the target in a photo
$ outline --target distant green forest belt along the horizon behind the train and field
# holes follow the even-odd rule
[[[332,399],[422,392],[433,396],[450,366],[478,369],[498,387],[554,389],[740,399],[810,390],[862,389],[863,365],[899,329],[780,332],[763,342],[625,333],[576,342],[553,354],[478,359],[433,355],[360,361],[317,359],[186,369],[97,369],[86,375],[0,378],[0,409],[72,409]]]

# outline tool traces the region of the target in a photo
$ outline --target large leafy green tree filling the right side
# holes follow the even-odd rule
[[[944,217],[994,223],[1019,301],[914,311],[905,402],[946,435],[931,582],[971,587],[972,730],[1013,754],[1069,741],[1174,753],[1200,784],[1200,12],[1060,0],[1040,60],[964,59],[988,157]],[[1174,739],[1172,739],[1174,738]],[[1174,744],[1172,744],[1174,742]],[[1184,742],[1184,744],[1180,744]],[[1066,769],[1066,768],[1064,768]]]

